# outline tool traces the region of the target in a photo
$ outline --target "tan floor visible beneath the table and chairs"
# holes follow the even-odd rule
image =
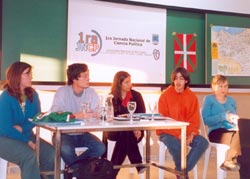
[[[204,157],[202,157],[202,159],[198,163],[199,179],[202,178],[203,160],[204,160]],[[167,160],[166,165],[173,166],[172,160]],[[209,168],[209,171],[207,172],[206,179],[216,179],[216,158],[215,158],[215,155],[211,155],[208,168]],[[20,172],[17,169],[17,167],[11,165],[7,179],[20,179],[19,173]],[[150,175],[151,175],[150,179],[158,179],[158,169],[155,167],[150,167]],[[189,178],[193,179],[193,172],[189,173]],[[118,174],[117,179],[140,179],[140,176],[136,173],[136,170],[134,170],[134,174],[131,174],[129,168],[122,168]],[[176,179],[176,177],[175,177],[175,175],[173,175],[171,173],[165,172],[164,179]],[[239,179],[239,173],[238,172],[227,172],[227,179]]]

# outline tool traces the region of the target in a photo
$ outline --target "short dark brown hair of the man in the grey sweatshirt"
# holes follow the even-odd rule
[[[67,78],[68,78],[68,85],[73,84],[73,80],[77,80],[80,76],[80,73],[88,71],[88,65],[84,63],[74,63],[68,66],[67,69]]]

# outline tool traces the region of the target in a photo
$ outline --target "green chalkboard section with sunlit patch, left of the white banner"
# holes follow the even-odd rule
[[[1,79],[10,64],[22,59],[31,61],[40,70],[37,74],[40,77],[50,73],[46,81],[64,81],[67,0],[2,0],[2,3]]]

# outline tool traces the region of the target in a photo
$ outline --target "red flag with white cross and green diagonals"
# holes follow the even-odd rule
[[[175,34],[174,36],[174,64],[194,72],[196,69],[196,35]]]

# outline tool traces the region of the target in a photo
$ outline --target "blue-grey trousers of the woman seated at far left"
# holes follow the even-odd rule
[[[35,139],[34,136],[32,138]],[[54,148],[42,139],[40,141],[40,170],[36,152],[22,141],[0,137],[0,157],[20,167],[22,179],[40,179],[40,170],[54,170]],[[54,176],[50,175],[45,178],[53,179]]]

